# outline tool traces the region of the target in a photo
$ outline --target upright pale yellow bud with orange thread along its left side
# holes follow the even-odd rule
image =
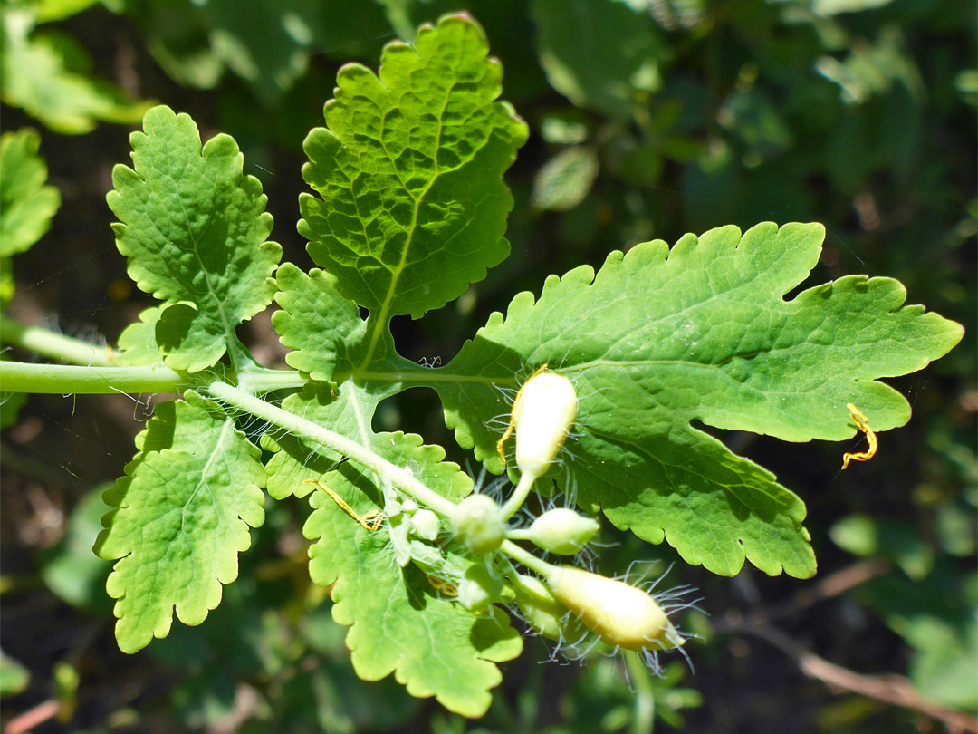
[[[512,404],[516,466],[542,476],[556,459],[577,418],[577,392],[563,375],[543,370],[520,388]]]

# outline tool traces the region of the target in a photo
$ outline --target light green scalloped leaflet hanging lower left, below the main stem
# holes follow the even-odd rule
[[[95,545],[118,560],[107,589],[116,599],[115,637],[133,653],[169,632],[174,610],[200,624],[238,576],[248,527],[265,519],[258,447],[216,404],[188,391],[156,406],[137,437],[139,453],[105,494],[118,508]]]

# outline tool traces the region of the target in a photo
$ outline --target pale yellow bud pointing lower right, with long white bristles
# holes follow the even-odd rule
[[[598,573],[557,566],[547,574],[557,601],[609,645],[626,650],[679,647],[684,639],[642,589]]]

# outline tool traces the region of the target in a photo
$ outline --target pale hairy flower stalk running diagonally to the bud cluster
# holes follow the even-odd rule
[[[257,416],[275,426],[286,429],[293,436],[320,443],[323,446],[332,448],[337,453],[348,456],[358,464],[376,473],[380,482],[390,482],[405,494],[413,497],[438,514],[443,515],[450,521],[455,519],[457,509],[454,502],[445,499],[433,489],[419,482],[409,472],[395,464],[391,464],[371,449],[356,441],[350,440],[346,436],[340,436],[322,426],[317,426],[315,423],[293,415],[287,410],[276,407],[271,403],[265,402],[260,397],[255,397],[227,383],[211,383],[207,386],[206,391],[213,397],[229,405],[234,405],[253,416]]]

